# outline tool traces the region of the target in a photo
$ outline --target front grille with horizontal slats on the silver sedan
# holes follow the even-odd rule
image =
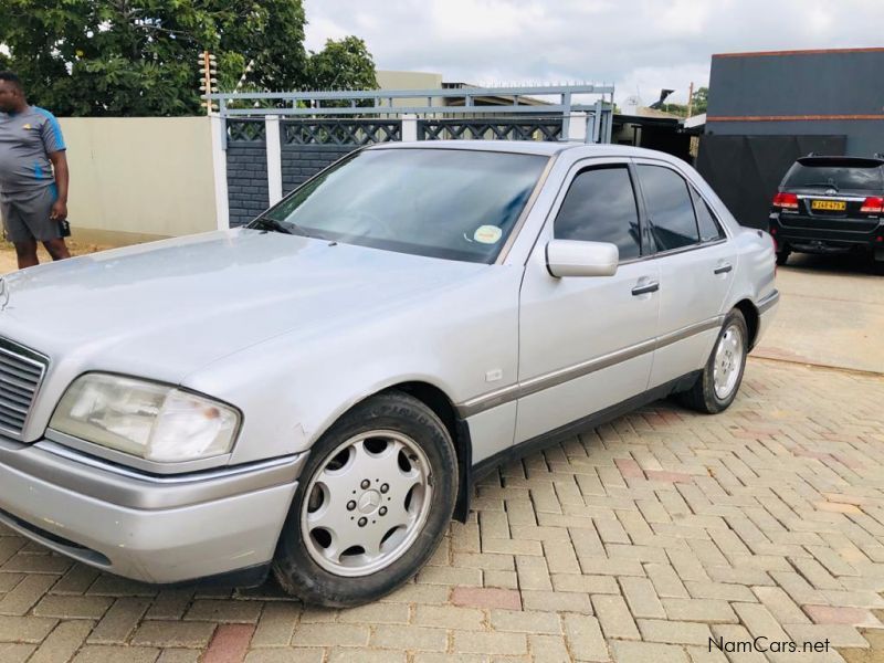
[[[20,436],[43,381],[49,360],[0,338],[0,431]]]

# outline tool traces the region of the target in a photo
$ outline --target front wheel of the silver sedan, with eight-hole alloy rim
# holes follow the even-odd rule
[[[372,397],[314,445],[274,559],[287,592],[344,608],[383,597],[435,551],[457,494],[454,444],[399,391]]]

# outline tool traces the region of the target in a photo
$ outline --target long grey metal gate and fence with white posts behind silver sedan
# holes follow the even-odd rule
[[[210,95],[219,108],[215,143],[229,224],[248,223],[329,164],[373,143],[610,143],[613,93],[611,85],[559,85]],[[586,96],[591,103],[576,98]]]

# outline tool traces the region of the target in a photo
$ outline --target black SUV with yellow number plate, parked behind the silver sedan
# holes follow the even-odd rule
[[[872,252],[884,265],[884,157],[802,157],[780,182],[769,232],[777,264],[792,251]]]

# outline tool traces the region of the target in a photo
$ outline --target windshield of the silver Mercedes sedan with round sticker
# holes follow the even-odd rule
[[[263,218],[325,240],[493,263],[547,161],[464,149],[364,150]],[[261,218],[254,227],[262,228]]]

